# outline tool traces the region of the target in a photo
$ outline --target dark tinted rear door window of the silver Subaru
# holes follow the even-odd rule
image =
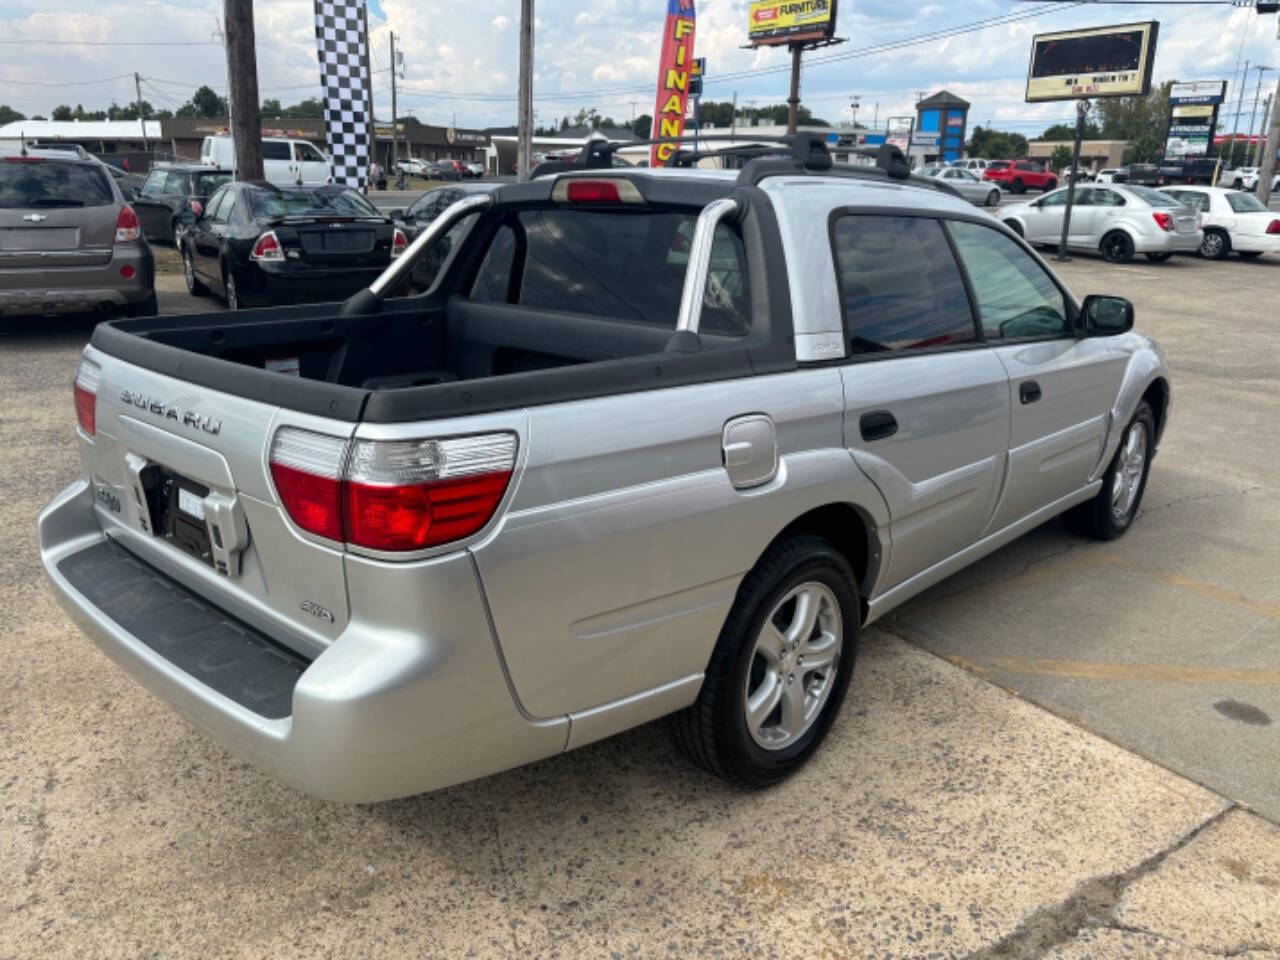
[[[937,220],[841,216],[832,246],[854,353],[977,339],[964,279]]]

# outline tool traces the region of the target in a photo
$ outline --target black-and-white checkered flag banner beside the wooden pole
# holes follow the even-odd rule
[[[316,47],[333,182],[361,189],[369,177],[370,83],[365,0],[316,0]]]

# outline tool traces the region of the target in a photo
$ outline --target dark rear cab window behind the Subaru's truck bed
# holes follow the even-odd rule
[[[675,329],[696,219],[677,211],[513,214],[494,234],[471,297]],[[700,329],[750,332],[744,264],[742,241],[718,227]]]

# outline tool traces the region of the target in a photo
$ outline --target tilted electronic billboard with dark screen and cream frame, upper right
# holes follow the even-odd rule
[[[1156,20],[1146,20],[1036,35],[1027,102],[1146,96],[1158,31]]]

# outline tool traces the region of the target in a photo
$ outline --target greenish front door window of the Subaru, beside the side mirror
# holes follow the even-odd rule
[[[980,224],[952,220],[947,229],[969,274],[988,340],[1071,333],[1062,291],[1021,247]]]

